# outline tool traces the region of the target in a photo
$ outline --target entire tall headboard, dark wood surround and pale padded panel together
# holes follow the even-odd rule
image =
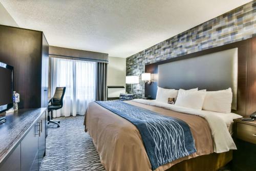
[[[154,75],[145,96],[156,97],[157,86],[173,89],[233,90],[234,113],[256,111],[256,37],[145,65]]]

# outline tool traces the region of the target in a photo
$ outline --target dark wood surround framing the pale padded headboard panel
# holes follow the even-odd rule
[[[256,37],[151,63],[145,66],[145,72],[157,74],[158,65],[163,63],[193,58],[232,48],[238,48],[238,109],[237,111],[232,112],[242,116],[248,116],[252,112],[256,111]],[[145,84],[145,96],[150,95],[153,98],[156,97],[157,81],[156,76],[155,82],[152,85],[148,86]]]

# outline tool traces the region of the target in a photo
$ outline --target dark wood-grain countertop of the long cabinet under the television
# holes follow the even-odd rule
[[[46,109],[19,109],[5,114],[6,122],[0,124],[0,163],[18,145]]]

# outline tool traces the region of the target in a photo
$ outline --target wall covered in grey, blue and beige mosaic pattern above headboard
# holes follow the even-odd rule
[[[230,44],[256,36],[256,0],[126,58],[126,75],[140,76],[139,84],[126,84],[126,91],[144,97],[141,73],[157,61]]]

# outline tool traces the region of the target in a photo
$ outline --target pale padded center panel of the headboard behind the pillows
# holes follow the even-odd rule
[[[158,66],[158,86],[167,89],[232,89],[232,109],[237,110],[238,48]]]

